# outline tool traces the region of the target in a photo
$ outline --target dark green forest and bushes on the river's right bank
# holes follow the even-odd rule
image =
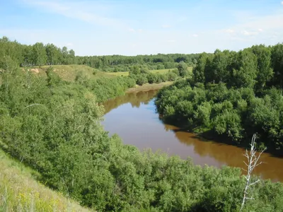
[[[156,106],[163,119],[214,139],[283,149],[283,44],[239,52],[203,53],[192,79],[163,88]]]

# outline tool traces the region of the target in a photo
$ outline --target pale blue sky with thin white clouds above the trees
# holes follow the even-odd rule
[[[0,37],[76,55],[238,51],[283,42],[282,0],[0,0]]]

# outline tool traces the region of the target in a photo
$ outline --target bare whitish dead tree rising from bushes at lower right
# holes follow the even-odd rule
[[[260,159],[261,154],[266,150],[266,148],[260,151],[260,153],[257,153],[257,150],[255,148],[255,139],[256,139],[256,134],[253,134],[253,139],[250,143],[250,151],[246,150],[246,153],[243,154],[248,160],[248,163],[246,163],[245,161],[243,162],[248,167],[248,170],[245,170],[247,172],[247,175],[245,176],[246,186],[243,191],[243,201],[242,201],[242,205],[240,208],[240,212],[243,211],[243,206],[245,205],[246,200],[253,199],[253,195],[249,195],[251,187],[254,184],[257,184],[258,182],[260,182],[260,179],[253,181],[252,179],[250,179],[250,177],[253,172],[253,169],[257,167],[258,165],[262,164],[262,162],[258,163],[258,160]]]

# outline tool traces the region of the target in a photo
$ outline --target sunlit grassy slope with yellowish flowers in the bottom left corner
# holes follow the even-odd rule
[[[40,184],[35,175],[0,149],[0,211],[89,211]]]

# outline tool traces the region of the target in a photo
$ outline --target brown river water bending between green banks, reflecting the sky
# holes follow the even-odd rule
[[[141,151],[151,148],[180,158],[192,158],[195,165],[245,168],[244,149],[236,146],[206,141],[195,134],[180,131],[178,127],[164,124],[155,112],[154,96],[158,90],[127,93],[108,100],[102,122],[109,134],[118,134],[125,144],[137,146]],[[254,174],[273,182],[283,182],[283,158],[263,153]]]

